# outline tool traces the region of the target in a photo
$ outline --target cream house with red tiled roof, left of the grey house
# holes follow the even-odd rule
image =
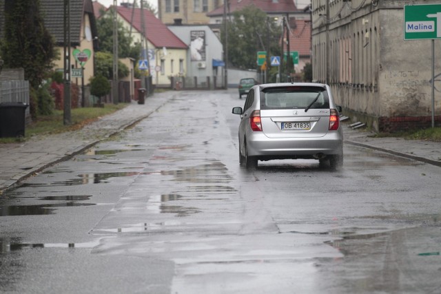
[[[139,65],[141,69],[145,67],[149,71],[145,73],[150,73],[154,85],[169,87],[172,77],[185,75],[187,44],[181,41],[150,10],[125,5],[118,6],[116,11],[125,28],[132,31],[134,44],[141,43],[143,57]]]

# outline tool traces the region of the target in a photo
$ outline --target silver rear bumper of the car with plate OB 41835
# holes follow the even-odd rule
[[[247,137],[247,149],[249,156],[262,158],[320,158],[342,154],[343,136],[329,132],[317,138],[268,138],[262,132],[253,132]]]

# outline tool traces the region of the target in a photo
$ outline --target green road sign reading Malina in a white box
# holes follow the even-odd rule
[[[404,6],[404,40],[441,39],[441,4]]]

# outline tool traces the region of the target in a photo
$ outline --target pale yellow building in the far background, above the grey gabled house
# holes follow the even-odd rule
[[[222,3],[223,0],[158,0],[159,19],[167,25],[176,21],[185,25],[207,24],[207,12]]]

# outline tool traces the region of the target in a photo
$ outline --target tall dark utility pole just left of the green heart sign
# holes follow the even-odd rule
[[[64,103],[63,124],[71,124],[70,116],[70,0],[64,0]]]

